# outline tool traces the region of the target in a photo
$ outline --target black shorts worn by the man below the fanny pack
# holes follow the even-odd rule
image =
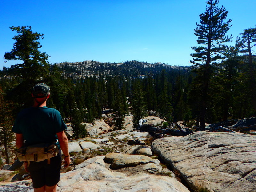
[[[50,164],[47,160],[34,162],[30,161],[28,171],[33,182],[34,188],[40,188],[44,185],[49,187],[56,185],[60,181],[61,168],[61,150],[57,156],[50,159]]]

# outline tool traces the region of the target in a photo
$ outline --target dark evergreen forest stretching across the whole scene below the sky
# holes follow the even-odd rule
[[[77,138],[86,135],[80,123],[93,123],[105,110],[114,114],[117,129],[128,112],[134,127],[140,118],[158,116],[167,122],[184,120],[197,130],[204,130],[205,123],[254,116],[256,26],[241,29],[234,46],[228,46],[233,39],[226,35],[232,23],[228,11],[217,0],[206,3],[194,30],[192,65],[186,67],[135,60],[50,64],[40,51],[44,34],[30,26],[10,27],[15,43],[4,58],[22,62],[0,71],[1,145],[13,140],[15,117],[32,105],[31,89],[39,82],[50,86],[47,106],[75,125]]]

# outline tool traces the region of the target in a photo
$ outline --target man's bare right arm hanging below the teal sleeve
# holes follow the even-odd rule
[[[64,167],[68,167],[71,162],[69,152],[68,152],[68,138],[64,133],[64,131],[58,132],[56,134],[60,143],[60,148],[64,154],[64,161],[65,161]]]

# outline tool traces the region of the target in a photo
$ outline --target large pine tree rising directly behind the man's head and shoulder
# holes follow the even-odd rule
[[[18,35],[13,39],[11,52],[6,52],[4,58],[8,60],[22,60],[23,63],[12,65],[10,71],[16,77],[21,79],[21,83],[14,87],[7,94],[8,100],[19,103],[20,108],[31,106],[32,100],[30,89],[37,83],[45,80],[49,76],[48,55],[42,53],[39,49],[42,47],[39,39],[43,39],[44,34],[32,32],[31,26],[10,27],[12,31],[16,31]],[[6,61],[6,62],[7,62]],[[19,93],[19,97],[16,93]]]

